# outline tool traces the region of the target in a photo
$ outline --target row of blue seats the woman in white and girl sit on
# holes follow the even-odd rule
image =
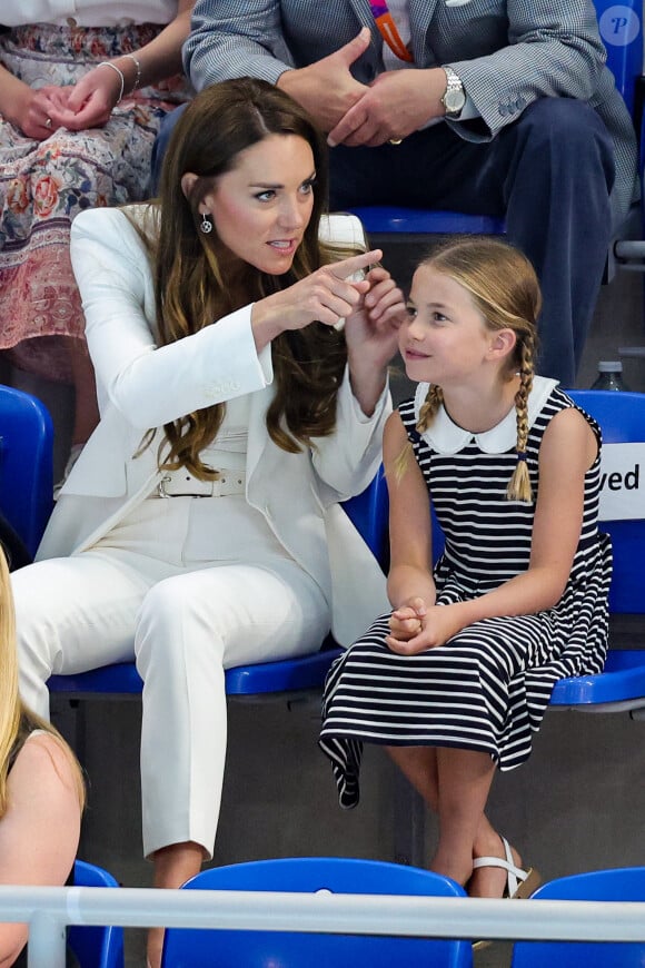
[[[645,442],[645,395],[575,391],[574,398],[594,416],[605,444]],[[33,552],[51,512],[51,419],[42,404],[20,391],[0,386],[0,507]],[[345,510],[365,541],[386,566],[387,487],[379,474]],[[607,521],[612,534],[614,575],[609,605],[614,615],[645,613],[645,521]],[[645,708],[645,642],[629,649],[611,649],[605,671],[598,675],[564,679],[550,699],[552,707],[583,711],[623,711]],[[230,669],[229,695],[261,695],[319,689],[338,646],[328,639],[320,652],[296,660],[266,662]],[[133,663],[121,663],[79,675],[56,675],[52,691],[75,698],[137,694],[141,680]]]

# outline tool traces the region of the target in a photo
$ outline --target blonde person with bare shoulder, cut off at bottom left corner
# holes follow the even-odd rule
[[[0,547],[0,885],[66,882],[83,800],[71,750],[18,695],[13,602]],[[0,925],[0,968],[16,962],[27,932],[27,925]]]

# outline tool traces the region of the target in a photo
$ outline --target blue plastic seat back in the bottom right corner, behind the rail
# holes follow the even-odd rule
[[[548,881],[535,900],[645,901],[645,867],[595,870]],[[645,942],[517,941],[512,968],[643,968]]]

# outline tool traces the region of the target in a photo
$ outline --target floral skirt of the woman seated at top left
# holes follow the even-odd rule
[[[0,62],[32,88],[71,85],[100,61],[139,50],[162,29],[17,27],[0,32]],[[72,219],[83,208],[149,196],[159,125],[188,96],[187,81],[175,77],[123,98],[102,128],[61,128],[44,141],[28,138],[0,115],[0,350],[14,366],[72,382],[60,339],[85,333],[69,257]]]

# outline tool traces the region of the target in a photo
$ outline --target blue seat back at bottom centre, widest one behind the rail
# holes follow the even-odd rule
[[[459,885],[417,868],[354,858],[284,858],[201,871],[185,890],[317,891],[464,897]],[[166,931],[162,968],[468,968],[466,941],[284,931]]]

